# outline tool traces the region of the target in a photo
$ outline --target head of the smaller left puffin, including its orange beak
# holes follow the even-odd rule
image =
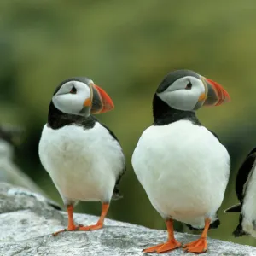
[[[63,113],[84,117],[88,117],[90,113],[105,113],[114,108],[107,92],[87,78],[63,81],[56,88],[52,102]]]

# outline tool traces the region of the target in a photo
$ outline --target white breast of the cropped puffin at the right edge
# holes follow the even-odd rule
[[[241,207],[242,229],[256,238],[256,166],[252,171],[252,176],[248,177],[246,195]]]

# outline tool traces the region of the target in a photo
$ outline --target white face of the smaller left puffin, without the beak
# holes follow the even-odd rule
[[[91,83],[93,83],[90,80]],[[52,98],[55,108],[58,108],[63,113],[89,115],[90,107],[87,107],[86,113],[81,113],[84,110],[84,102],[91,99],[91,90],[89,84],[84,84],[79,81],[68,81],[61,85]]]

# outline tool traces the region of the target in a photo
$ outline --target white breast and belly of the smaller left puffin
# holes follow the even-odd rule
[[[124,167],[119,143],[99,123],[92,129],[44,125],[39,156],[64,201],[109,201]]]

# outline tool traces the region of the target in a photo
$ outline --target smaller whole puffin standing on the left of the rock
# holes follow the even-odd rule
[[[125,172],[123,149],[113,131],[92,115],[113,108],[107,92],[85,77],[66,79],[55,89],[38,146],[41,163],[67,207],[67,229],[53,235],[101,229],[110,201],[122,197],[118,185]],[[96,224],[74,223],[79,201],[102,203]]]

